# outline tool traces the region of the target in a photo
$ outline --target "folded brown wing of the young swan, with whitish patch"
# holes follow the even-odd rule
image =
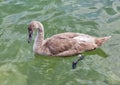
[[[95,48],[89,38],[78,33],[62,33],[47,39],[44,46],[55,56],[70,56]],[[87,35],[86,35],[87,36]]]

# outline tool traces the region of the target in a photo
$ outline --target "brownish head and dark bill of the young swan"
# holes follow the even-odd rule
[[[35,29],[42,29],[43,25],[38,21],[32,21],[28,26],[28,43],[32,40],[33,32]]]

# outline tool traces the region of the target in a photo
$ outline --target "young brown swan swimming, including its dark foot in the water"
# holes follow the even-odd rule
[[[28,43],[30,43],[33,31],[36,29],[37,36],[34,41],[33,51],[36,54],[46,56],[79,55],[82,52],[98,48],[111,38],[111,36],[97,38],[82,33],[66,32],[53,35],[52,37],[44,40],[43,25],[38,21],[32,21],[28,26]],[[73,68],[76,67],[78,61],[73,62]]]

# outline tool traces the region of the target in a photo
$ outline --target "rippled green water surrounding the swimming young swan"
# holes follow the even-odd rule
[[[27,43],[30,21],[41,21],[45,37],[61,32],[112,36],[99,49],[77,57],[34,55]],[[119,0],[1,0],[0,85],[119,85]]]

